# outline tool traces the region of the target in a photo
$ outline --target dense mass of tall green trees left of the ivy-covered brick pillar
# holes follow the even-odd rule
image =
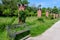
[[[18,4],[27,4],[28,0],[2,0],[2,4],[0,5],[0,14],[17,16],[18,15]]]

